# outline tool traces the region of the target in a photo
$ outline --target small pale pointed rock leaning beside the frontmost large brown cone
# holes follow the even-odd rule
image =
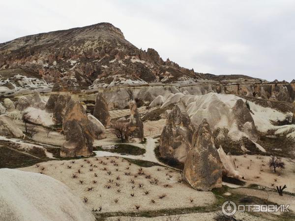
[[[231,153],[225,154],[221,146],[217,151],[223,165],[223,174],[240,179],[241,177],[239,175],[239,172],[236,170],[236,164],[234,159],[232,158]]]

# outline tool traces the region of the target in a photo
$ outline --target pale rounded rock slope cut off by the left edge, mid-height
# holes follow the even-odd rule
[[[9,116],[0,115],[0,135],[12,136],[15,138],[24,137],[23,132],[13,123]]]

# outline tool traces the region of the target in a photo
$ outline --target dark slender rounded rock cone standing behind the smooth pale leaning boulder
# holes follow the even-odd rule
[[[110,126],[111,117],[109,113],[109,105],[103,93],[98,92],[96,96],[93,116],[96,117],[104,127]]]

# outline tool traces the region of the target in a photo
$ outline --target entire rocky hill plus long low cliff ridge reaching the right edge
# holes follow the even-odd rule
[[[164,61],[154,49],[138,49],[110,23],[29,35],[0,44],[0,79],[0,96],[24,94],[19,90],[25,89],[25,94],[47,92],[53,83],[59,83],[70,91],[84,89],[90,93],[101,88],[112,88],[113,93],[126,85],[142,86],[136,94],[134,88],[124,88],[119,96],[149,102],[167,93],[167,88],[159,89],[159,85],[168,87],[169,93],[187,90],[198,95],[214,91],[295,100],[295,81],[267,82],[244,75],[196,73],[169,59]]]

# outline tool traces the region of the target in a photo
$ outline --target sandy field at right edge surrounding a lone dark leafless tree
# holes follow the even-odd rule
[[[278,169],[274,173],[267,166],[270,157],[259,155],[233,156],[237,170],[244,176],[247,184],[258,184],[275,189],[276,186],[287,186],[287,192],[295,193],[295,162],[282,158],[285,169]],[[249,167],[249,168],[248,168]],[[273,186],[272,186],[273,184]]]

